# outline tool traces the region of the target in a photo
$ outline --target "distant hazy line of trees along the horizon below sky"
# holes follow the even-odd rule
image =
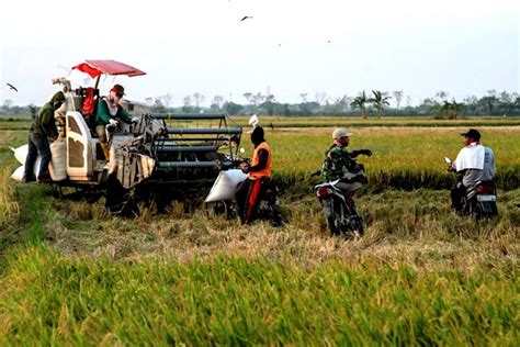
[[[301,93],[301,102],[285,103],[276,101],[274,94],[262,92],[246,92],[241,96],[244,102],[226,100],[223,96],[214,96],[208,103],[200,92],[182,98],[180,105],[173,105],[173,96],[167,93],[145,98],[152,112],[201,113],[224,112],[231,115],[358,115],[382,117],[384,115],[434,116],[437,119],[456,119],[466,115],[520,115],[520,94],[507,91],[488,90],[483,97],[468,96],[461,101],[451,98],[446,91],[438,91],[433,97],[423,99],[412,105],[411,98],[403,90],[392,92],[371,90],[361,91],[355,97],[330,97],[326,92],[314,96]],[[11,100],[4,100],[0,107],[1,114],[33,114],[36,107],[14,105]]]

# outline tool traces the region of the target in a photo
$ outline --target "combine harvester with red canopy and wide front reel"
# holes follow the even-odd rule
[[[108,128],[106,163],[93,128],[92,108],[86,105],[95,105],[100,100],[98,86],[102,75],[146,74],[114,60],[86,60],[75,70],[89,74],[95,82],[93,87],[72,89],[69,80],[57,80],[64,86],[67,108],[65,137],[50,145],[50,184],[58,195],[104,194],[111,211],[127,213],[135,208],[133,202],[140,199],[166,204],[205,194],[222,168],[236,167],[242,128],[226,114],[158,114],[133,102],[126,102],[124,108],[139,116],[139,122],[132,126],[120,122],[120,128],[113,132]],[[25,155],[26,146],[15,152],[22,165]],[[20,179],[21,172],[23,167],[13,178]],[[72,187],[74,192],[66,194],[65,187]]]

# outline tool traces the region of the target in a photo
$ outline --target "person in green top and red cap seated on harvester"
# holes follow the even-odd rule
[[[95,111],[95,133],[99,136],[101,149],[103,150],[106,161],[110,159],[105,132],[106,124],[112,124],[114,127],[117,127],[120,121],[123,121],[126,124],[138,122],[137,117],[131,119],[129,114],[126,113],[121,105],[120,101],[124,94],[125,89],[123,86],[114,85],[110,90],[109,96],[100,100]]]

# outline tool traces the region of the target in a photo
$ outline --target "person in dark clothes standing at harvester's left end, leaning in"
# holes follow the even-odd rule
[[[42,156],[42,161],[39,163],[37,181],[52,181],[48,171],[48,165],[50,163],[49,142],[54,142],[58,138],[58,128],[56,127],[54,113],[64,102],[65,94],[61,91],[58,91],[36,114],[33,125],[29,131],[29,152],[27,157],[25,158],[23,182],[36,180],[36,177],[34,177],[34,164],[36,163],[38,154]]]

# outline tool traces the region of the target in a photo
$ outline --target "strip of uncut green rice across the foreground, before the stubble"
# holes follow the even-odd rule
[[[0,343],[513,346],[518,284],[517,271],[371,258],[113,264],[34,247],[10,258],[0,282]]]

